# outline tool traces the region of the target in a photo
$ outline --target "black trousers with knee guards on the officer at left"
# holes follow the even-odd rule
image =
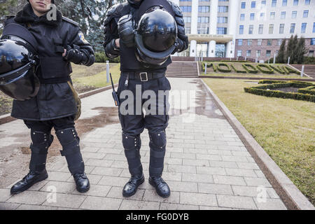
[[[58,118],[46,121],[25,120],[25,125],[31,130],[31,161],[29,169],[41,172],[45,169],[48,148],[52,144],[52,127],[62,145],[61,154],[66,157],[71,174],[84,172],[84,162],[80,153],[80,139],[74,127],[74,118]]]

